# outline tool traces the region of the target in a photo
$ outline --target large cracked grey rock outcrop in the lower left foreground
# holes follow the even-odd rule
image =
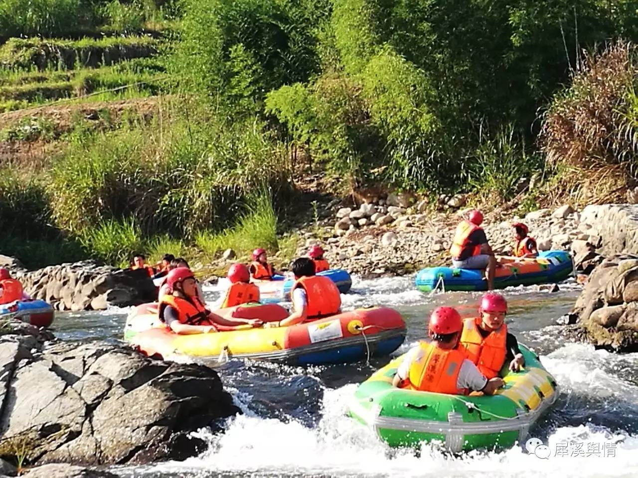
[[[189,433],[239,410],[218,374],[128,347],[64,343],[20,322],[0,330],[0,458],[85,465],[181,460]]]

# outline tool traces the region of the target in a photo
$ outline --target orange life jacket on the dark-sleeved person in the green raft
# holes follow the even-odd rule
[[[480,317],[465,319],[461,345],[465,348],[467,358],[471,360],[480,372],[493,379],[503,368],[507,355],[507,325],[503,324],[499,330],[494,330],[483,338],[479,331]]]

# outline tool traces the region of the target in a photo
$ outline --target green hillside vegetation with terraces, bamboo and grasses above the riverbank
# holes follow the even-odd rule
[[[305,171],[337,193],[382,184],[521,210],[621,198],[637,174],[637,12],[0,0],[3,252],[41,265],[278,249]]]

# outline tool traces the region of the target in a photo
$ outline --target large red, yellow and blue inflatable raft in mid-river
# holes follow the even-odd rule
[[[276,304],[246,304],[214,311],[244,319],[279,321],[288,316]],[[184,354],[283,361],[295,365],[346,363],[384,356],[403,344],[406,326],[401,314],[387,307],[350,312],[279,328],[246,328],[218,333],[177,335],[158,319],[157,304],[140,305],[126,321],[124,338],[148,356]]]

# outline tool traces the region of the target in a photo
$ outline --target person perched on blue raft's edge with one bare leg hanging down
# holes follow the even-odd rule
[[[463,219],[456,227],[454,240],[450,248],[452,266],[459,269],[485,269],[487,290],[494,289],[494,271],[496,257],[487,243],[485,231],[480,227],[483,214],[473,210],[468,219]]]

